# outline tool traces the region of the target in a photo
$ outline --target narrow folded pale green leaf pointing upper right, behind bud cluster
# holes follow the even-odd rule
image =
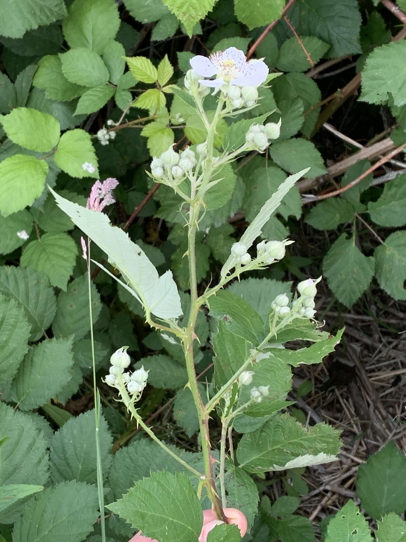
[[[259,211],[258,215],[254,218],[248,228],[245,230],[243,236],[240,238],[240,242],[244,243],[247,249],[252,246],[252,243],[259,237],[262,233],[262,229],[267,221],[269,221],[271,215],[279,207],[280,202],[286,196],[287,192],[292,188],[294,183],[300,179],[305,173],[309,171],[309,168],[299,171],[295,175],[287,177],[287,179],[280,184],[278,190],[273,193],[273,195],[264,203],[263,207]],[[221,268],[221,276],[225,276],[230,269],[232,269],[237,263],[237,260],[233,256],[229,256],[228,260]]]

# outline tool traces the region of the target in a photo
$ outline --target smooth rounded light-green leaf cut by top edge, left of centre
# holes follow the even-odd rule
[[[119,10],[114,0],[75,0],[62,22],[69,47],[86,47],[101,55],[120,27]]]

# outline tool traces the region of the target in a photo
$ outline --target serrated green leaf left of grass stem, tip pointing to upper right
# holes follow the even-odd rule
[[[41,406],[69,382],[73,365],[72,344],[70,337],[48,339],[30,346],[11,386],[19,409],[32,410]]]

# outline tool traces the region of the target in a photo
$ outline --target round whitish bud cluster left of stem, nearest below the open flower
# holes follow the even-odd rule
[[[151,174],[155,179],[169,186],[176,186],[191,174],[197,163],[195,154],[189,147],[178,153],[171,145],[159,158],[154,156],[151,162]]]

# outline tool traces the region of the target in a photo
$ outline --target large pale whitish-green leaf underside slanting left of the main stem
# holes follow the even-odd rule
[[[177,318],[182,314],[170,271],[159,277],[143,250],[130,241],[122,229],[113,227],[107,215],[80,207],[51,192],[59,207],[104,250],[110,263],[120,269],[124,279],[135,289],[134,295],[145,302],[150,312],[160,318]]]

